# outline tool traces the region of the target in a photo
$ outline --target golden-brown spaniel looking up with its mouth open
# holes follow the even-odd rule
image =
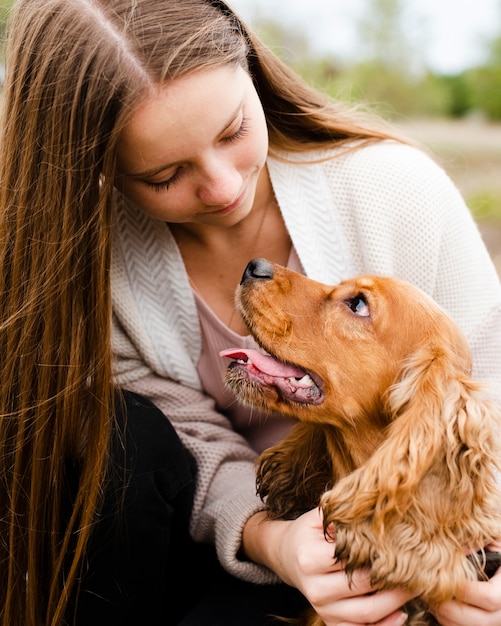
[[[266,354],[222,351],[225,382],[295,421],[257,461],[268,515],[320,506],[349,579],[369,568],[376,589],[417,596],[408,624],[437,624],[428,606],[501,564],[482,549],[501,537],[501,411],[464,335],[420,289],[376,275],[329,286],[253,259],[235,301]],[[303,623],[323,625],[313,609]]]

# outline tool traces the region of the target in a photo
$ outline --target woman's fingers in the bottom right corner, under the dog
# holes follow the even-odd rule
[[[501,538],[488,549],[501,552]],[[461,602],[445,602],[433,614],[442,626],[501,626],[501,567],[488,581],[467,583]]]

